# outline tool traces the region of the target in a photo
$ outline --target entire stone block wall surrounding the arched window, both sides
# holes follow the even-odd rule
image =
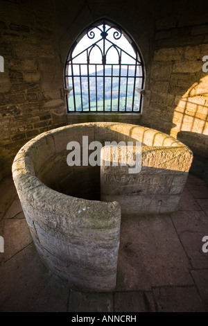
[[[0,0],[0,180],[19,148],[45,130],[84,121],[142,124],[173,135],[207,164],[207,0]],[[142,116],[66,114],[70,46],[101,17],[132,35],[144,58]],[[194,162],[194,160],[193,160]],[[204,162],[204,161],[203,161]],[[205,174],[205,173],[204,173]]]

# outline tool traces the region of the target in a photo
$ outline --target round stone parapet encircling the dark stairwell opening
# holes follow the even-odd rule
[[[78,141],[83,151],[83,135],[103,146],[141,141],[141,171],[83,162],[69,166],[67,144]],[[44,264],[70,287],[112,291],[121,211],[172,212],[191,160],[189,148],[173,137],[125,123],[80,123],[28,141],[15,157],[12,175]]]

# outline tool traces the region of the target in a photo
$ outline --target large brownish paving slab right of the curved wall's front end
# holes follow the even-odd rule
[[[191,265],[169,216],[128,216],[121,221],[116,291],[193,284]]]

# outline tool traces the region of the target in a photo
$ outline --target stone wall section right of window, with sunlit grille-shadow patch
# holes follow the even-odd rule
[[[208,53],[207,4],[175,1],[175,6],[167,4],[162,11],[162,6],[155,7],[153,51],[142,116],[145,126],[187,144],[195,154],[192,171],[205,179],[208,75],[202,71],[202,58]]]

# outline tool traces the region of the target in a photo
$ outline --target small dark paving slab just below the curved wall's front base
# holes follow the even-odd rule
[[[69,312],[112,312],[112,293],[83,293],[71,290]]]

